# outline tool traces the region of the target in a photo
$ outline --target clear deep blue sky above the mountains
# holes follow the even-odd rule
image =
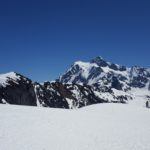
[[[0,1],[0,73],[52,80],[98,55],[150,66],[149,0]]]

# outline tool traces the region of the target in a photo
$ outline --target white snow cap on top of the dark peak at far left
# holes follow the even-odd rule
[[[0,86],[6,87],[10,81],[17,83],[17,80],[20,80],[20,77],[15,72],[0,74]]]

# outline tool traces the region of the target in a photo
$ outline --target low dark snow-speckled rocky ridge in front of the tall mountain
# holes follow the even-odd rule
[[[80,108],[83,106],[107,102],[97,97],[90,86],[45,82],[35,85],[40,106],[54,108]]]

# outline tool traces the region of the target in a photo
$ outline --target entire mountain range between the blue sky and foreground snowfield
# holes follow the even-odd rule
[[[0,75],[0,103],[79,108],[97,103],[150,99],[150,68],[125,67],[96,57],[75,62],[54,82],[43,84],[15,72]]]

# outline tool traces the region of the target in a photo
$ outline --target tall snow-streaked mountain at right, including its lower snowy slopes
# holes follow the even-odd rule
[[[94,93],[108,102],[124,102],[150,97],[150,68],[131,68],[96,57],[90,62],[75,62],[59,81],[64,84],[89,85]]]

